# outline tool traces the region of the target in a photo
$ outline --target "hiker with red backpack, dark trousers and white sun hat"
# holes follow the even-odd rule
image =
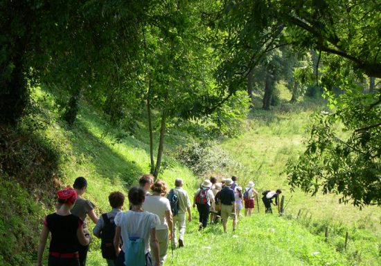
[[[195,196],[193,197],[193,208],[197,205],[197,211],[200,214],[199,230],[208,225],[209,211],[214,211],[214,195],[211,190],[212,183],[210,180],[204,180],[202,187],[197,189]]]

